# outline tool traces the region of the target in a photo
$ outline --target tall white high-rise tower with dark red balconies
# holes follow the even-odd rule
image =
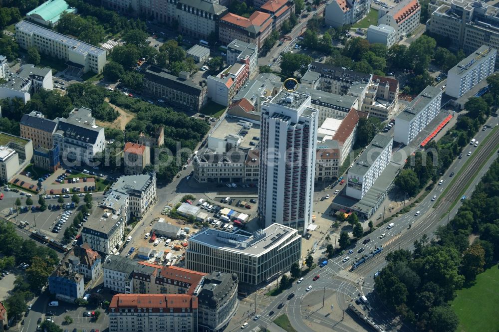
[[[319,111],[310,96],[283,90],[261,112],[260,227],[278,223],[304,234],[312,222]]]

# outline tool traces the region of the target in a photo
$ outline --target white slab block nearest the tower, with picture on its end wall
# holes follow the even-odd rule
[[[393,138],[378,134],[347,174],[347,196],[361,199],[381,175],[392,157]]]

